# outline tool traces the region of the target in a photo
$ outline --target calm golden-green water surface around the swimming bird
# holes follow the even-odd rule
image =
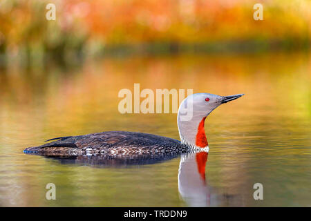
[[[310,61],[185,55],[1,70],[0,206],[311,206]],[[174,113],[118,112],[117,93],[134,83],[245,96],[207,117],[208,155],[120,165],[23,153],[49,138],[101,131],[179,139]],[[263,200],[253,198],[257,182]],[[57,200],[46,200],[48,183]]]

